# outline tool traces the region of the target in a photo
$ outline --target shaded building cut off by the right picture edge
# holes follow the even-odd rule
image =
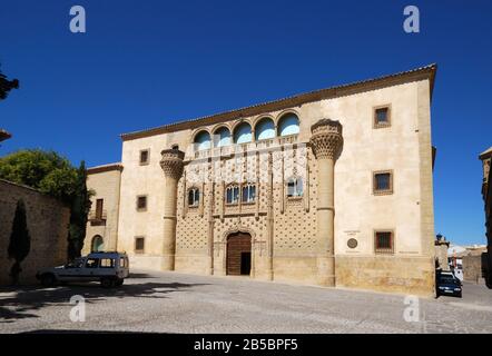
[[[486,256],[484,257],[484,274],[489,288],[492,288],[492,192],[490,181],[492,169],[490,169],[492,160],[492,147],[482,152],[479,158],[483,166],[482,197],[485,206],[485,229],[486,229]]]

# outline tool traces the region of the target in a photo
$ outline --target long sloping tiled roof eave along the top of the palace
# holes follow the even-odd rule
[[[122,140],[131,140],[141,137],[148,137],[159,135],[164,132],[177,131],[190,127],[198,127],[200,125],[210,125],[227,121],[234,118],[247,117],[259,115],[266,111],[274,111],[281,108],[288,108],[298,106],[305,102],[313,102],[324,98],[334,98],[343,95],[355,93],[364,90],[371,90],[371,88],[383,88],[395,83],[401,83],[412,80],[430,79],[431,81],[431,96],[434,87],[434,78],[437,70],[437,65],[432,63],[425,67],[415,68],[407,71],[402,71],[388,76],[377,77],[373,79],[361,80],[347,85],[329,87],[321,90],[309,91],[305,93],[295,95],[292,97],[277,99],[273,101],[266,101],[240,109],[230,111],[224,111],[215,115],[204,116],[190,120],[181,120],[174,123],[164,125],[156,128],[149,128],[140,131],[122,134]]]

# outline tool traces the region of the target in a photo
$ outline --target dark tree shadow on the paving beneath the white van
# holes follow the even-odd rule
[[[138,275],[137,275],[138,276]],[[150,278],[135,277],[132,278]],[[107,298],[167,298],[169,293],[180,291],[190,287],[203,286],[205,284],[183,284],[183,283],[134,283],[125,284],[118,288],[102,288],[98,283],[69,284],[45,288],[41,286],[9,287],[2,288],[1,293],[7,293],[6,297],[0,294],[0,324],[13,323],[17,319],[33,318],[38,315],[32,312],[48,306],[70,305],[70,298],[80,295],[86,303],[98,303]]]

